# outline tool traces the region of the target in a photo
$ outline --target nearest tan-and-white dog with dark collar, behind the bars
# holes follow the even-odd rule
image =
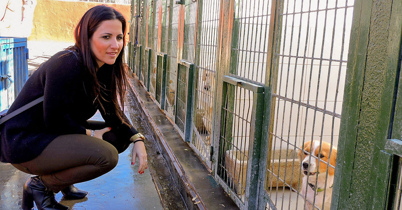
[[[329,210],[335,169],[328,166],[328,163],[335,166],[336,147],[324,141],[308,141],[304,143],[303,150],[299,151],[299,158],[301,172],[304,174],[300,192],[306,197],[304,209],[312,210],[314,201],[314,206]]]

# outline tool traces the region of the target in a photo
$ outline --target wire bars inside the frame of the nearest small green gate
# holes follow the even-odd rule
[[[224,102],[219,145],[218,174],[245,202],[248,145],[252,113],[252,92],[231,84],[224,84]]]

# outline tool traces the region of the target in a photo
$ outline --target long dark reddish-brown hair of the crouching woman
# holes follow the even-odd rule
[[[103,105],[100,103],[100,99],[103,98],[103,87],[100,85],[96,78],[96,70],[99,68],[98,63],[96,62],[95,55],[92,53],[90,49],[90,39],[96,29],[98,29],[99,25],[105,20],[119,20],[121,22],[122,31],[123,31],[123,47],[116,58],[114,64],[111,65],[112,68],[112,84],[111,84],[111,93],[112,93],[112,102],[115,107],[115,113],[119,117],[119,119],[124,123],[130,126],[129,122],[126,122],[124,116],[124,100],[125,100],[125,91],[127,85],[127,71],[124,66],[124,46],[125,46],[125,32],[126,32],[126,21],[124,16],[117,10],[112,7],[106,5],[98,5],[90,8],[87,12],[85,12],[84,16],[80,19],[77,24],[77,27],[74,32],[75,45],[74,48],[78,50],[78,53],[81,55],[82,63],[87,70],[85,72],[86,77],[88,78],[90,84],[92,84],[92,92],[91,95],[95,98],[95,100],[100,104],[100,108],[103,108]],[[105,64],[104,64],[105,65]],[[120,106],[119,100],[120,99]],[[123,110],[121,110],[121,108]]]

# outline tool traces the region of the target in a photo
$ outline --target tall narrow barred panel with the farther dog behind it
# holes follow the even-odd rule
[[[197,34],[197,75],[194,100],[194,134],[192,145],[211,167],[213,109],[216,81],[216,52],[219,26],[219,0],[204,0],[199,5]]]

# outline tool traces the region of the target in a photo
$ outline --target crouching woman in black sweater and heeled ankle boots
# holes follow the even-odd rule
[[[53,192],[85,197],[87,192],[73,184],[111,171],[130,143],[131,165],[138,157],[138,173],[147,168],[144,136],[120,108],[127,78],[125,31],[117,10],[104,5],[88,10],[76,27],[75,45],[41,65],[8,110],[44,96],[43,104],[5,122],[0,136],[1,162],[37,175],[25,183],[24,210],[33,208],[33,201],[39,210],[69,209]],[[88,120],[97,110],[105,122]]]

